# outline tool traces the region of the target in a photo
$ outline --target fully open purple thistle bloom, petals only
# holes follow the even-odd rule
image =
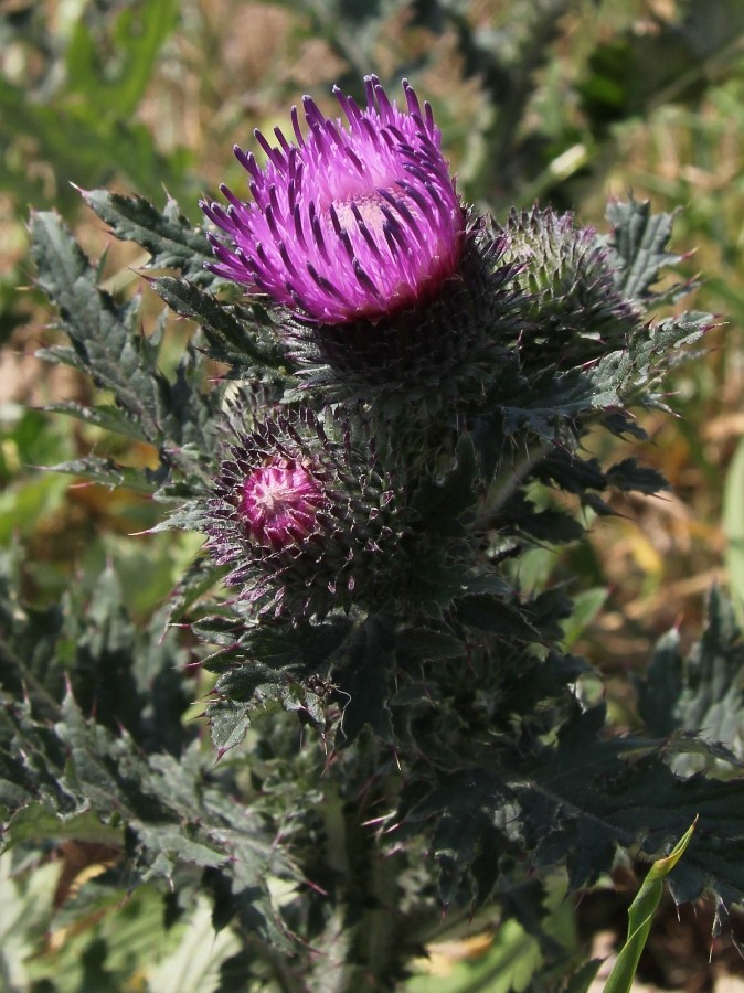
[[[436,295],[458,266],[465,215],[439,150],[432,108],[403,81],[407,110],[366,76],[366,107],[338,87],[346,115],[332,120],[302,98],[297,143],[255,131],[268,161],[235,156],[251,175],[252,203],[201,204],[226,235],[210,236],[220,276],[261,290],[298,317],[343,324],[394,313]]]

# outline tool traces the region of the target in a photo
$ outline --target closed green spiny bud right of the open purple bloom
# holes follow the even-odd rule
[[[506,258],[521,263],[520,350],[527,365],[581,365],[621,349],[640,312],[616,285],[608,249],[572,214],[512,211],[502,228]]]

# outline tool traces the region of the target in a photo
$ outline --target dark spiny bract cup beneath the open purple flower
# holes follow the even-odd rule
[[[475,214],[466,217],[457,271],[432,299],[379,318],[316,325],[290,320],[284,335],[297,373],[328,403],[379,397],[382,409],[426,397],[463,408],[492,382],[516,371],[510,349],[523,318],[514,286],[520,265],[507,260],[508,238]],[[391,406],[392,405],[392,406]]]

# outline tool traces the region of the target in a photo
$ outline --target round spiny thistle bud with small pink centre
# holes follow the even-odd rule
[[[235,418],[233,418],[234,420]],[[389,480],[348,421],[277,414],[238,433],[205,509],[208,546],[259,612],[294,619],[374,596],[401,519]]]

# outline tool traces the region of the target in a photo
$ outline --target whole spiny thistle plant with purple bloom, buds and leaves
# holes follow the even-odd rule
[[[56,468],[146,489],[167,510],[153,531],[204,535],[131,665],[140,693],[212,674],[222,761],[193,725],[163,756],[156,719],[127,765],[123,697],[102,727],[67,661],[54,732],[33,694],[8,718],[10,836],[29,805],[67,830],[93,812],[137,878],[168,879],[180,906],[210,894],[241,949],[221,989],[393,989],[433,939],[510,915],[552,989],[576,962],[544,929],[546,891],[589,886],[618,850],[651,862],[700,814],[676,898],[744,896],[735,743],[690,726],[679,650],[639,683],[646,734],[609,735],[597,674],[564,648],[571,590],[520,585],[524,554],[581,541],[608,492],[665,489],[585,441],[642,436],[635,412],[665,408],[665,373],[712,319],[663,316],[690,288],[657,289],[680,260],[670,216],[616,201],[604,234],[551,209],[481,216],[432,108],[405,82],[404,109],[364,85],[363,107],[336,90],[343,118],[306,97],[291,138],[256,132],[263,166],[236,149],[247,190],[203,202],[205,231],[173,202],[84,194],[198,325],[170,378],[139,300],[97,286],[55,215],[32,218],[70,339],[45,356],[115,398],[65,413],[159,458],[145,478],[94,456]],[[701,664],[724,641],[741,664],[718,597],[712,612]],[[188,696],[169,692],[178,715]]]

